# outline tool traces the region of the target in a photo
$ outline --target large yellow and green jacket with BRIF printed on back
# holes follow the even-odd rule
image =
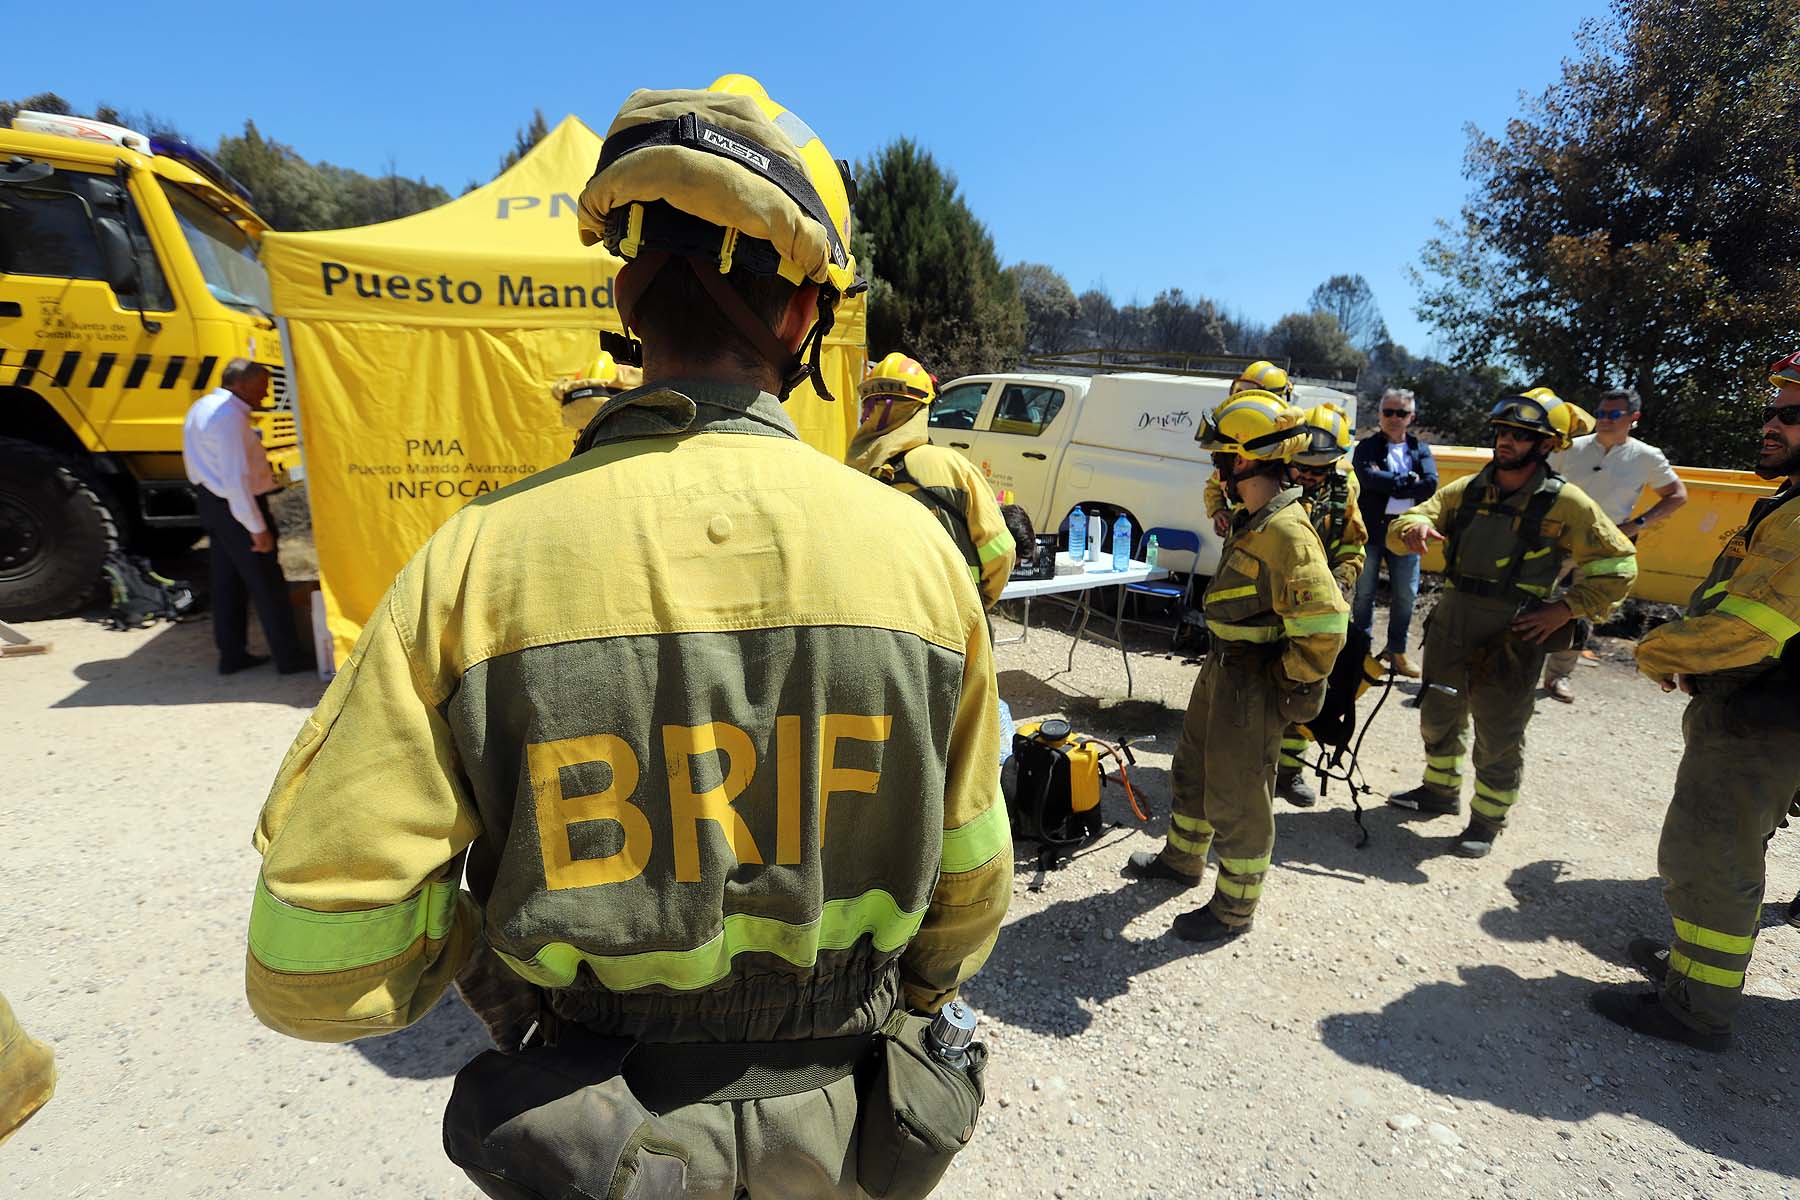
[[[1010,896],[995,700],[918,504],[756,389],[610,398],[425,543],[301,729],[254,838],[250,1006],[387,1033],[484,937],[562,1018],[648,1042],[931,1011]]]

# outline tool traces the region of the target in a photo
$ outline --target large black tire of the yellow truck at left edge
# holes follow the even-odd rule
[[[0,437],[0,621],[81,608],[119,549],[119,524],[79,461]]]

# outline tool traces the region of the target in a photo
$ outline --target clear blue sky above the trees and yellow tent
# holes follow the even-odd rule
[[[392,160],[457,193],[533,108],[605,130],[635,86],[742,70],[839,157],[922,142],[1006,263],[1120,302],[1179,286],[1265,322],[1361,272],[1418,353],[1406,266],[1467,194],[1463,122],[1503,128],[1602,9],[169,2],[90,4],[72,29],[14,5],[7,41],[38,52],[9,56],[0,92],[149,110],[205,144],[248,115],[308,158]]]

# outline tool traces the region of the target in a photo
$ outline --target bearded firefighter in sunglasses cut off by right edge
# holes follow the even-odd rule
[[[1656,858],[1674,941],[1638,937],[1627,948],[1656,991],[1602,988],[1591,1000],[1611,1022],[1705,1051],[1732,1042],[1762,916],[1764,851],[1800,795],[1800,353],[1775,360],[1769,383],[1757,475],[1780,488],[1750,506],[1687,619],[1638,644],[1640,671],[1692,696]]]

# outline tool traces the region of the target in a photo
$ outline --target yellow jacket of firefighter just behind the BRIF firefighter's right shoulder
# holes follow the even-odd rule
[[[1012,578],[1017,547],[981,468],[931,444],[929,412],[918,405],[900,425],[859,430],[848,462],[931,509],[968,565],[983,603],[994,608]]]

